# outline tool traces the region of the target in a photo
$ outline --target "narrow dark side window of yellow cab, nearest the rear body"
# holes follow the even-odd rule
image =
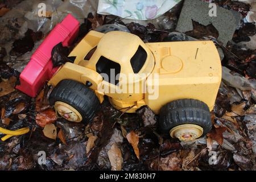
[[[131,57],[131,68],[133,68],[134,73],[141,71],[141,68],[147,60],[147,52],[143,47],[139,46],[137,52],[133,57]]]

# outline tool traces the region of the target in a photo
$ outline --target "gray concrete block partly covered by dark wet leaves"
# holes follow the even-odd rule
[[[209,3],[200,0],[185,0],[181,10],[179,22],[176,30],[187,32],[193,30],[192,20],[208,26],[213,26],[218,30],[218,40],[224,43],[224,46],[233,38],[234,31],[242,19],[242,15],[237,11],[227,10],[217,6],[217,16],[209,16]]]

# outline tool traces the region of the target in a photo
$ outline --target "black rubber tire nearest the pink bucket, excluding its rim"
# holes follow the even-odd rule
[[[82,115],[82,122],[91,122],[100,107],[93,90],[74,80],[61,80],[49,96],[49,104],[61,101],[74,107]]]

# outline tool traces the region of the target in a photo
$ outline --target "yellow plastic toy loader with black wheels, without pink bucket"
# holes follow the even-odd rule
[[[68,121],[91,121],[108,96],[129,113],[147,105],[160,115],[160,129],[180,140],[212,127],[221,61],[211,41],[143,43],[127,32],[90,31],[69,59],[48,82],[50,104]]]

